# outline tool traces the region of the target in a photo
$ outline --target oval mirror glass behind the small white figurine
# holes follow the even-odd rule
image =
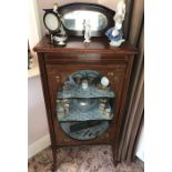
[[[92,31],[103,30],[108,24],[107,17],[98,11],[78,10],[63,16],[63,24],[69,30],[82,31],[84,20],[90,20]]]

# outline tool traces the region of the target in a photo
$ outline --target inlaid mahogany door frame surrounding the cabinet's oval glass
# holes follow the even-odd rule
[[[51,113],[53,117],[53,128],[54,128],[54,134],[55,134],[55,142],[57,145],[73,145],[77,144],[90,144],[90,143],[112,143],[115,142],[117,134],[119,132],[119,124],[120,124],[120,118],[121,113],[123,111],[123,99],[125,99],[127,93],[127,84],[128,84],[128,78],[129,78],[129,63],[114,63],[109,64],[105,68],[103,65],[59,65],[59,64],[47,64],[47,77],[48,77],[48,85],[49,85],[49,94],[50,94],[50,101],[51,101]],[[92,70],[98,71],[102,75],[107,77],[110,80],[111,88],[115,92],[114,98],[114,117],[112,124],[108,129],[108,131],[98,136],[97,139],[93,139],[91,141],[79,141],[74,140],[72,138],[69,138],[61,129],[58,118],[57,118],[57,92],[61,88],[62,83],[67,80],[69,75],[72,73],[80,71],[80,70]]]

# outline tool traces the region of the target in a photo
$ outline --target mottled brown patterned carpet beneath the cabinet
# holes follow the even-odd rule
[[[113,165],[110,145],[77,146],[57,151],[57,172],[143,172],[139,163]],[[51,172],[50,148],[29,160],[28,172]]]

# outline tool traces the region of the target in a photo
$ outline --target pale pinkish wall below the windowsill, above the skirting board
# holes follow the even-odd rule
[[[40,77],[28,80],[28,144],[47,135],[48,123]]]

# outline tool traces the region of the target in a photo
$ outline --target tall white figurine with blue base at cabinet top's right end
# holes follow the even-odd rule
[[[124,0],[119,0],[117,6],[117,13],[114,16],[114,27],[109,29],[105,34],[111,41],[110,44],[113,47],[120,47],[122,42],[124,42],[123,39],[123,31],[122,31],[122,23],[125,16],[125,3]]]

